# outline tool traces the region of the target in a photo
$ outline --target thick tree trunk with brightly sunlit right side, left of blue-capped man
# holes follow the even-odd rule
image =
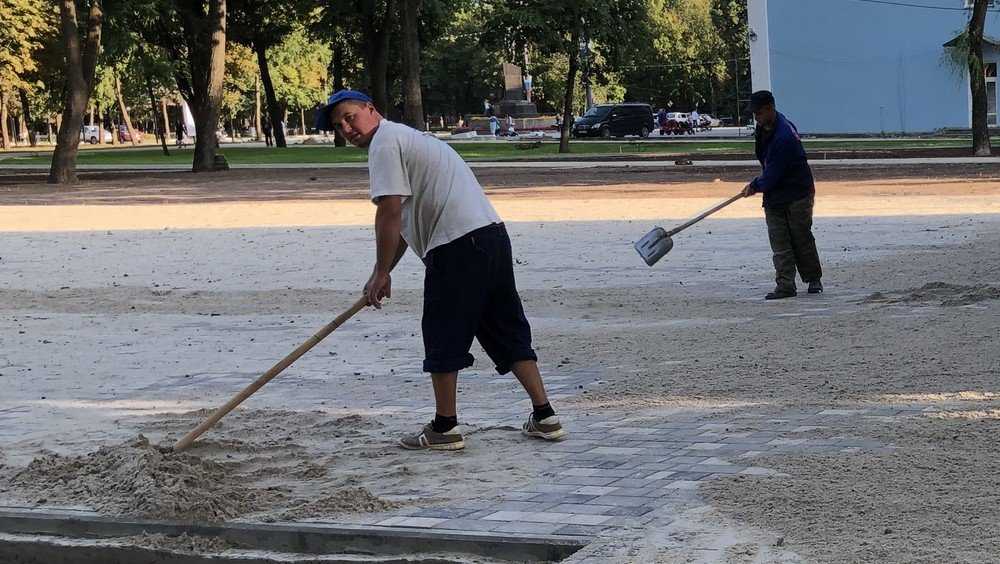
[[[187,42],[190,82],[178,80],[194,115],[195,144],[191,170],[215,170],[216,130],[222,107],[226,64],[226,0],[177,0]]]

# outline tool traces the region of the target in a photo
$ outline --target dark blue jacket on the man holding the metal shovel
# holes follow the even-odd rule
[[[778,113],[768,135],[757,129],[754,148],[764,170],[750,182],[764,194],[764,207],[778,207],[816,194],[812,170],[795,124]]]

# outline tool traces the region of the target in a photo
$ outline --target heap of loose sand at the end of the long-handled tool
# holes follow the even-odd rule
[[[281,497],[245,486],[219,463],[160,450],[146,437],[76,457],[35,458],[11,479],[37,502],[62,501],[101,513],[151,519],[221,521]]]

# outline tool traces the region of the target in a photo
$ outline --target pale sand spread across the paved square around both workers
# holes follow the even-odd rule
[[[620,172],[605,186],[567,176],[562,189],[494,191],[542,369],[570,422],[614,410],[655,418],[887,403],[987,414],[859,425],[853,434],[897,452],[767,460],[788,476],[715,482],[706,492],[715,508],[614,533],[595,554],[616,545],[625,548],[611,561],[1000,558],[982,540],[996,537],[998,521],[983,492],[996,489],[988,414],[1000,404],[1000,181],[921,174],[821,183],[815,232],[828,292],[779,303],[760,299],[772,272],[758,202],[677,236],[655,268],[631,249],[654,224],[734,193],[735,178],[633,183]],[[545,445],[517,432],[523,393],[481,352],[461,383],[462,406],[475,414],[463,420],[467,450],[442,464],[393,445],[433,411],[392,401],[432,405],[419,372],[420,264],[407,257],[389,307],[362,312],[191,451],[195,469],[229,476],[225,499],[252,502],[156,505],[177,485],[154,471],[154,446],[355,299],[370,269],[373,209],[356,195],[165,206],[132,194],[119,205],[22,206],[12,199],[37,188],[7,188],[0,504],[349,521],[489,497],[544,471]],[[558,386],[580,370],[597,374],[593,386]],[[939,436],[945,428],[961,440]],[[135,444],[140,433],[148,448]],[[124,491],[88,481],[121,449],[145,461],[131,474],[142,480]],[[143,449],[149,456],[136,457]],[[136,511],[136,492],[152,505]],[[857,507],[871,509],[852,514]],[[706,543],[718,551],[692,548]]]

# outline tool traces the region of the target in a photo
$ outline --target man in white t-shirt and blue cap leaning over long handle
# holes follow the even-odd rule
[[[472,169],[436,137],[388,121],[371,98],[341,90],[317,116],[317,129],[336,129],[368,148],[375,212],[376,261],[364,292],[380,308],[391,295],[390,272],[407,247],[427,267],[424,277],[424,371],[431,374],[437,412],[419,432],[403,437],[410,449],[458,450],[458,371],[472,365],[475,338],[497,372],[524,386],[534,409],[526,435],[566,436],[549,405],[531,327],[514,283],[510,238]]]

